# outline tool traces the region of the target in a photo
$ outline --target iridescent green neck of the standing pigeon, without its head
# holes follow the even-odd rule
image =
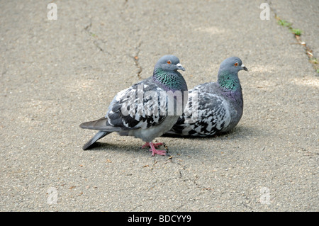
[[[186,91],[187,85],[184,77],[179,72],[166,71],[164,69],[155,68],[153,79],[162,89],[169,91]]]

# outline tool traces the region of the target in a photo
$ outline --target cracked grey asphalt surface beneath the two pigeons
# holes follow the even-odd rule
[[[318,211],[319,77],[262,2],[55,1],[50,21],[50,1],[0,1],[0,210]],[[272,6],[318,51],[319,2],[298,2]],[[83,151],[94,131],[79,124],[166,54],[189,87],[242,59],[237,127],[157,138],[171,158],[116,134]]]

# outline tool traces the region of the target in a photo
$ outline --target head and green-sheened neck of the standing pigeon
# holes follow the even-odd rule
[[[179,63],[179,58],[173,55],[164,55],[155,64],[153,79],[166,91],[186,91],[186,81],[177,70],[185,71]]]

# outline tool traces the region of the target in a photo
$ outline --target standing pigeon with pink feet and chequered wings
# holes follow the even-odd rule
[[[97,140],[111,132],[118,132],[119,135],[142,139],[146,143],[141,148],[150,147],[152,156],[166,155],[165,150],[156,149],[163,143],[153,143],[152,140],[170,130],[186,106],[187,84],[177,70],[185,70],[179,58],[164,55],[155,64],[151,77],[118,92],[105,117],[80,125],[80,128],[99,130],[83,149],[91,148]],[[179,114],[177,108],[169,109],[174,103],[181,106]]]

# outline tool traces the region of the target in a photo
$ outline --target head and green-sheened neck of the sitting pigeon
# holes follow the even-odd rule
[[[237,91],[241,89],[238,79],[238,72],[241,70],[248,71],[247,67],[242,64],[238,57],[229,57],[220,64],[218,71],[218,84],[225,91]]]

